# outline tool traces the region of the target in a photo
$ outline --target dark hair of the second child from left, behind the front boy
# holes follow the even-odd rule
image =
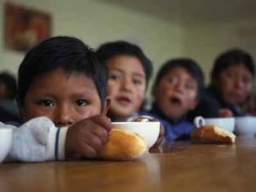
[[[110,58],[115,56],[134,56],[140,61],[143,70],[146,74],[146,88],[148,86],[148,81],[152,76],[153,67],[151,61],[145,56],[143,51],[137,45],[130,44],[125,41],[108,42],[106,44],[100,45],[97,50],[97,54],[104,60],[108,61]]]

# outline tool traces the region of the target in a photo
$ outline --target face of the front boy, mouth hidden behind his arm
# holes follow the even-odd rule
[[[24,122],[37,116],[47,116],[56,127],[100,113],[106,113],[108,102],[101,108],[100,97],[93,80],[78,72],[70,76],[58,68],[33,79],[25,95],[24,107],[19,104]]]

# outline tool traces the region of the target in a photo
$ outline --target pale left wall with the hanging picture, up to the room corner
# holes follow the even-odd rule
[[[4,3],[0,0],[0,26],[4,26]],[[96,49],[100,44],[124,39],[141,46],[154,68],[183,54],[183,30],[180,26],[148,15],[132,13],[110,4],[90,0],[13,0],[52,15],[52,36],[71,35]],[[0,71],[17,73],[24,53],[4,49],[0,30]]]

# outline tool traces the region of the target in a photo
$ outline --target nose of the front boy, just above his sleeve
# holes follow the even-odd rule
[[[69,127],[74,123],[72,109],[68,108],[68,106],[58,106],[54,115],[54,124],[57,127]]]

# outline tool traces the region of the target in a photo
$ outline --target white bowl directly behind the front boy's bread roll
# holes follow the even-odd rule
[[[159,136],[160,122],[114,122],[112,129],[127,129],[140,134],[147,140],[148,148],[152,147]]]

